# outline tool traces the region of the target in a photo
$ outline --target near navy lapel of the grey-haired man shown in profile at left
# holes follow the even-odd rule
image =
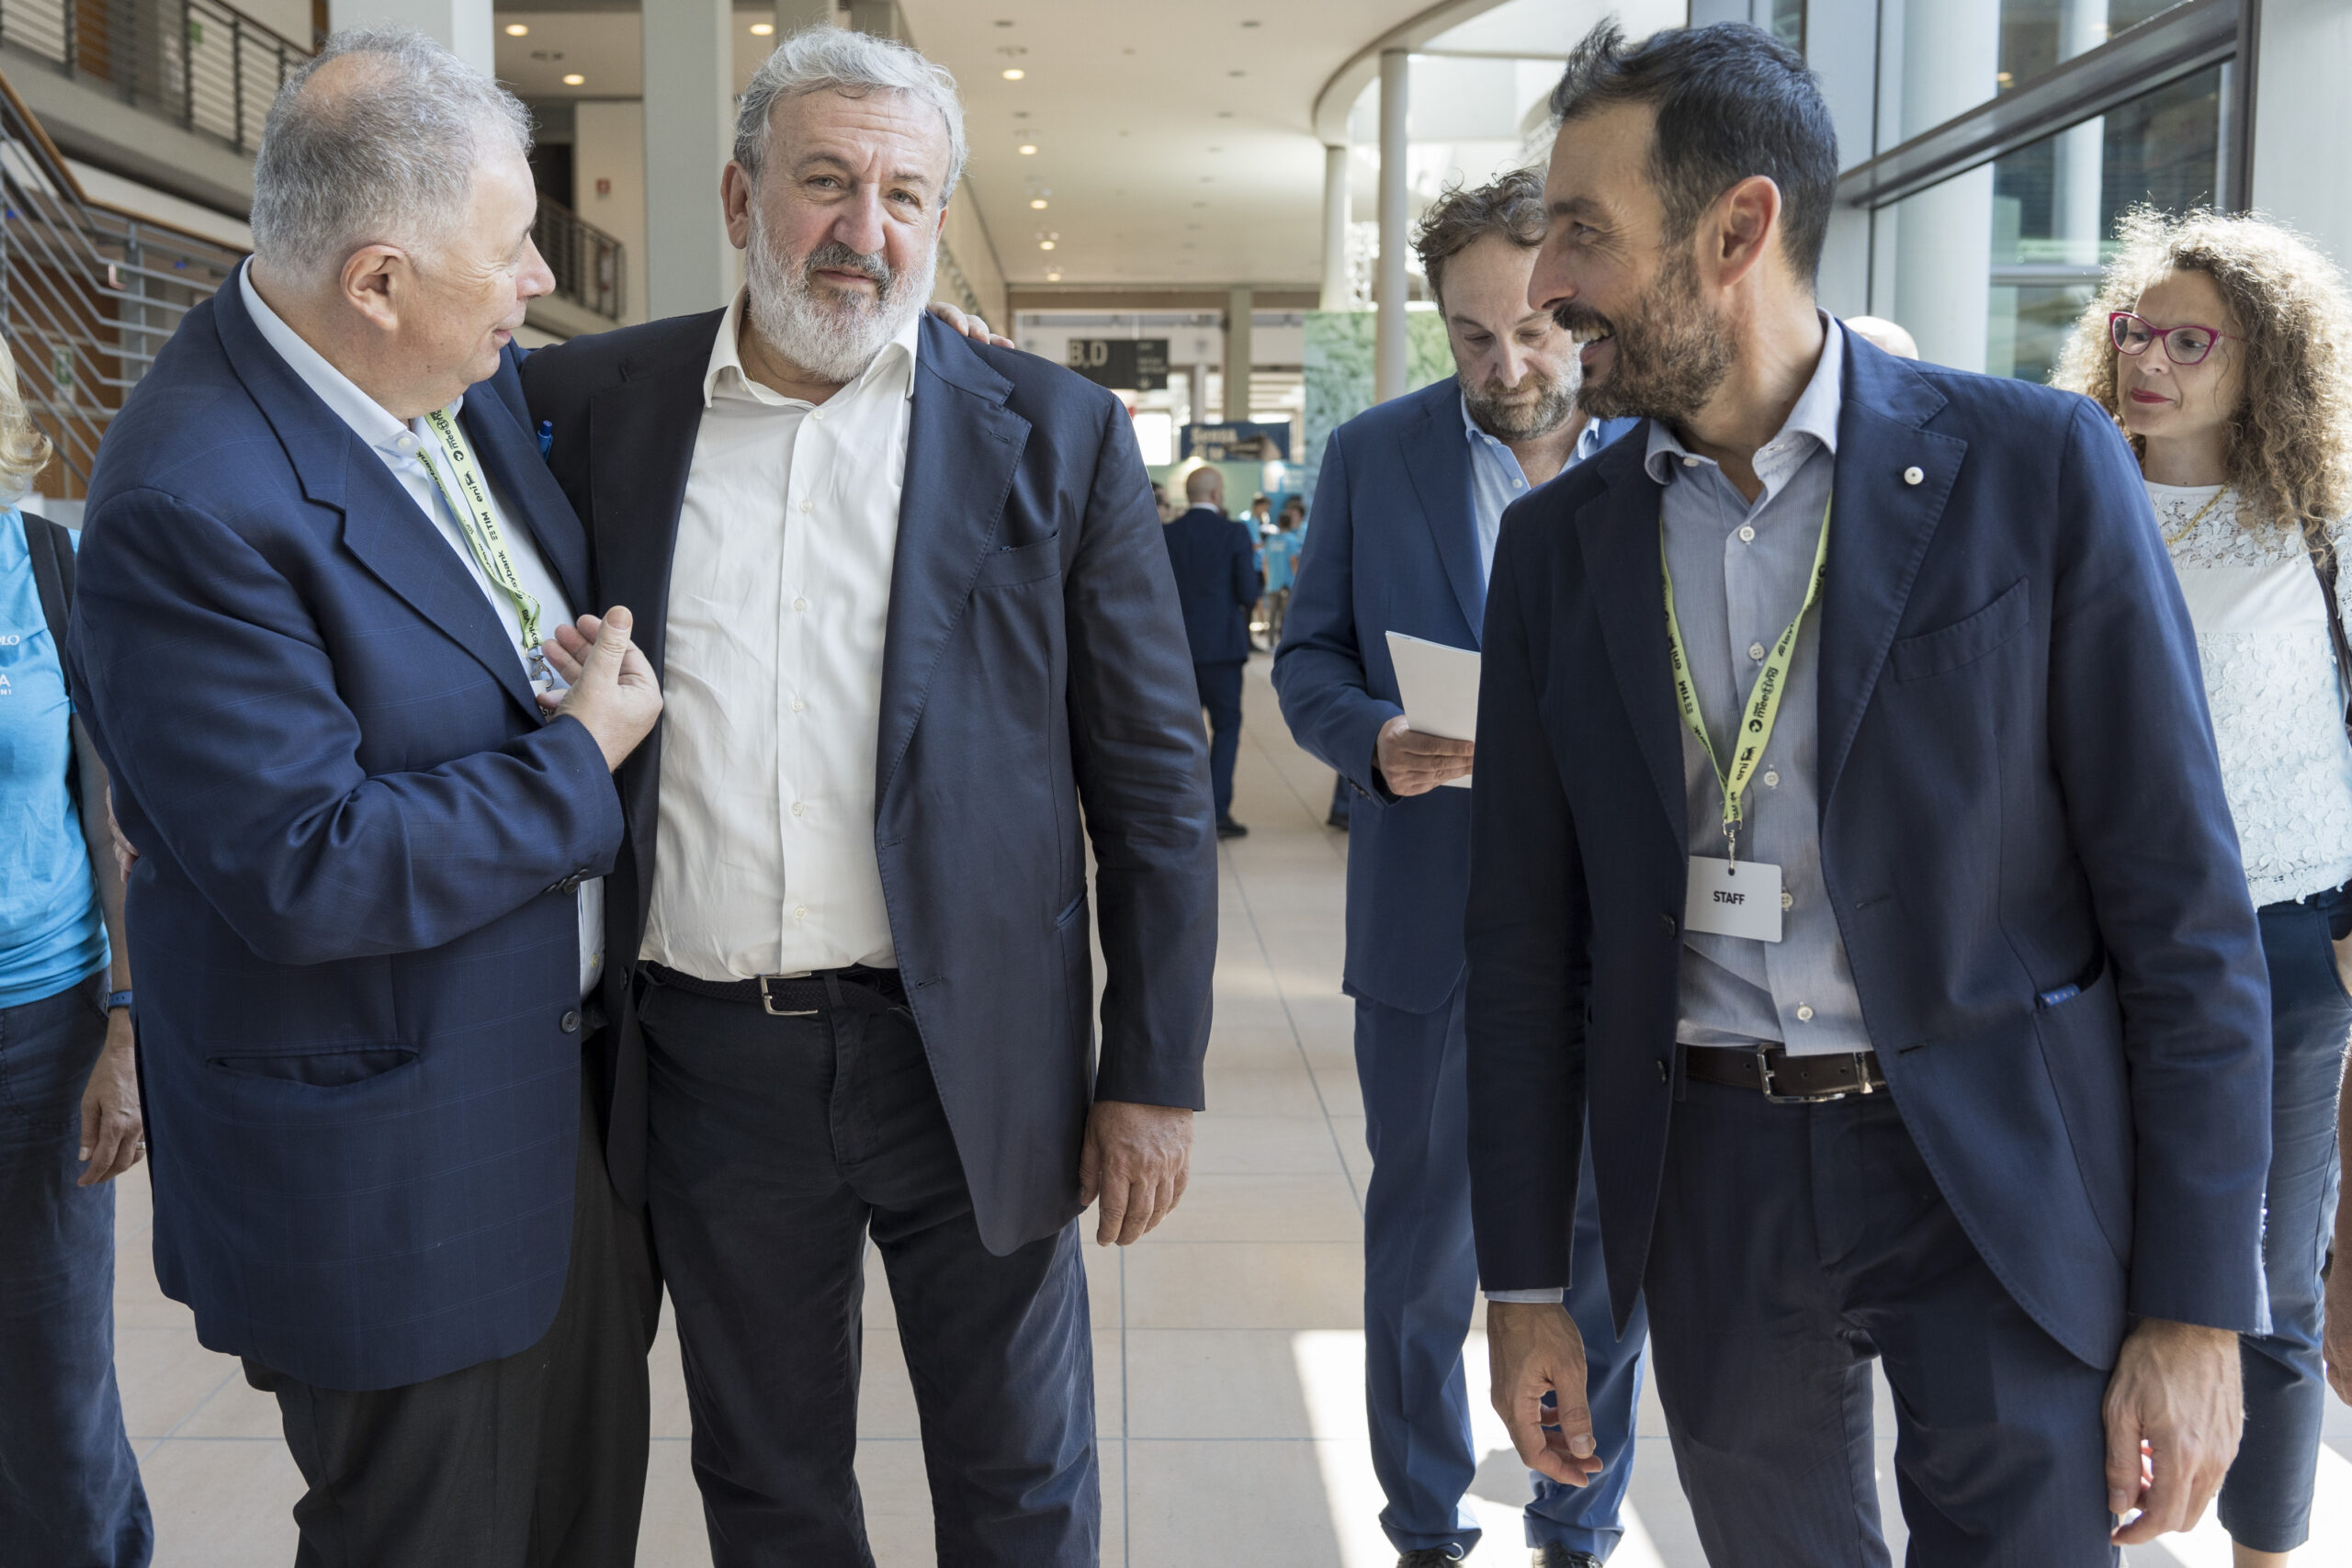
[[[343,548],[496,677],[536,724],[522,656],[456,550],[383,461],[268,346],[235,282],[212,296],[221,348],[294,465],[303,496],[343,517]]]

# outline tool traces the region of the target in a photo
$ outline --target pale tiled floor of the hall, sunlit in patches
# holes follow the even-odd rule
[[[1115,1568],[1388,1568],[1381,1497],[1364,1450],[1362,1262],[1369,1175],[1338,994],[1345,839],[1322,827],[1331,773],[1275,715],[1265,661],[1251,665],[1235,816],[1225,849],[1211,1114],[1200,1119],[1192,1190],[1148,1241],[1089,1248],[1103,1434],[1103,1561]],[[287,1507],[299,1479],[275,1406],[233,1361],[195,1345],[188,1314],[148,1267],[146,1171],[122,1182],[118,1356],[129,1429],[155,1505],[162,1568],[261,1568],[294,1556]],[[880,1286],[880,1281],[875,1281]],[[884,1568],[934,1563],[915,1406],[889,1293],[868,1293],[858,1472]],[[1472,1340],[1472,1387],[1484,1382]],[[1512,1502],[1522,1474],[1479,1401],[1472,1507],[1489,1521],[1475,1561],[1519,1563]],[[1882,1401],[1884,1406],[1884,1401]],[[1882,1408],[1879,1429],[1891,1432]],[[1616,1568],[1698,1568],[1656,1406],[1644,1410],[1635,1528]],[[2352,1410],[2328,1406],[2321,1507],[2303,1563],[2352,1561]],[[1891,1472],[1882,1441],[1882,1476]],[[1891,1481],[1882,1483],[1898,1535]],[[1900,1547],[1898,1547],[1900,1552]],[[647,1568],[703,1568],[687,1467],[677,1345],[654,1359]],[[2194,1537],[2131,1554],[2133,1568],[2225,1568],[2227,1542]],[[456,1568],[456,1566],[454,1566]],[[809,1568],[830,1568],[811,1563]]]

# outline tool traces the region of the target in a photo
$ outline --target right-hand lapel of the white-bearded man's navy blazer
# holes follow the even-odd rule
[[[988,369],[962,334],[922,320],[915,407],[898,498],[882,646],[882,733],[875,802],[915,738],[931,670],[964,616],[971,583],[995,543],[1030,423],[1004,407],[1011,381]]]

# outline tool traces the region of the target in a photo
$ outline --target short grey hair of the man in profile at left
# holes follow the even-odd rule
[[[334,61],[341,80],[313,87]],[[515,94],[407,28],[336,33],[287,78],[254,160],[254,254],[339,266],[362,244],[430,244],[466,216],[494,150],[532,150]]]

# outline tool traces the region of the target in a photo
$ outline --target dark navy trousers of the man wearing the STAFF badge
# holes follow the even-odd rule
[[[1649,1255],[1649,1345],[1712,1563],[1884,1568],[1870,1359],[1915,1568],[2107,1568],[2107,1373],[2009,1298],[1893,1098],[1691,1084]]]

